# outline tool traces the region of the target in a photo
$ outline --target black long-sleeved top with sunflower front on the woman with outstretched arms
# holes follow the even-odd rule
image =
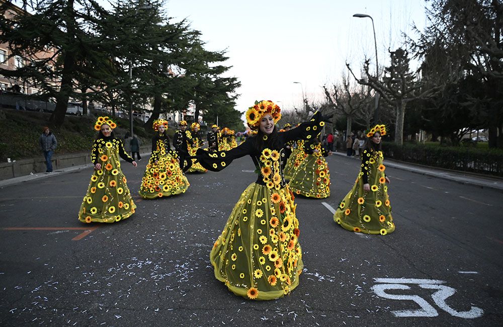
[[[286,185],[283,176],[283,168],[287,159],[285,144],[292,140],[315,138],[324,125],[321,118],[320,113],[315,113],[310,121],[302,123],[298,128],[279,132],[277,148],[269,148],[268,146],[271,145],[265,142],[262,151],[257,151],[255,144],[259,136],[251,136],[239,146],[228,151],[208,152],[198,149],[196,158],[204,168],[218,172],[227,167],[232,160],[249,155],[257,168],[256,172],[259,174],[256,183],[270,188],[281,188]]]

